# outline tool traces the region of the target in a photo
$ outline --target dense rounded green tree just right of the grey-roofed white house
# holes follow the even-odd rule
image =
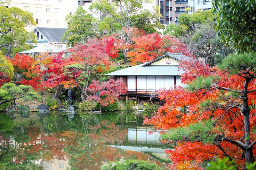
[[[62,41],[68,40],[68,46],[81,44],[88,39],[94,37],[97,32],[92,25],[92,17],[81,6],[73,15],[67,15],[66,21],[68,30],[65,31]]]

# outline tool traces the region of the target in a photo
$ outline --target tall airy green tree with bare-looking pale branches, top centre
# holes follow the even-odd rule
[[[157,6],[154,6],[152,11],[142,10],[142,3],[149,2],[150,0],[97,0],[92,3],[90,10],[94,10],[100,15],[103,14],[105,17],[113,18],[115,23],[120,25],[119,28],[136,26],[137,28],[143,28],[146,33],[155,33],[156,28],[162,28],[159,23],[161,15]],[[102,22],[102,19],[100,19],[100,22]]]

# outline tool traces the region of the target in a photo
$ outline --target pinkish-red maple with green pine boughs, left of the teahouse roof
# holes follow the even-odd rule
[[[102,67],[108,68],[111,64],[109,56],[104,53],[101,41],[97,39],[88,40],[84,45],[74,45],[69,49],[71,54],[69,65],[65,67],[65,72],[72,78],[64,81],[65,88],[73,85],[77,86],[84,101],[87,97],[88,85],[93,73],[101,73]]]

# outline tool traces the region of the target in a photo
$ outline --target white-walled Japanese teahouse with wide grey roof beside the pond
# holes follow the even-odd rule
[[[183,70],[179,68],[179,64],[188,59],[189,57],[182,53],[166,53],[150,62],[106,75],[114,79],[123,78],[123,83],[128,88],[128,92],[124,95],[137,100],[140,97],[152,96],[160,89],[183,86],[180,78]]]

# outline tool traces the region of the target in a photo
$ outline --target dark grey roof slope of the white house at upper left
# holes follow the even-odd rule
[[[67,28],[44,28],[44,27],[36,27],[38,31],[40,31],[47,40],[50,42],[62,42],[61,38],[64,35],[64,32],[67,31]],[[67,42],[65,40],[64,42]]]

